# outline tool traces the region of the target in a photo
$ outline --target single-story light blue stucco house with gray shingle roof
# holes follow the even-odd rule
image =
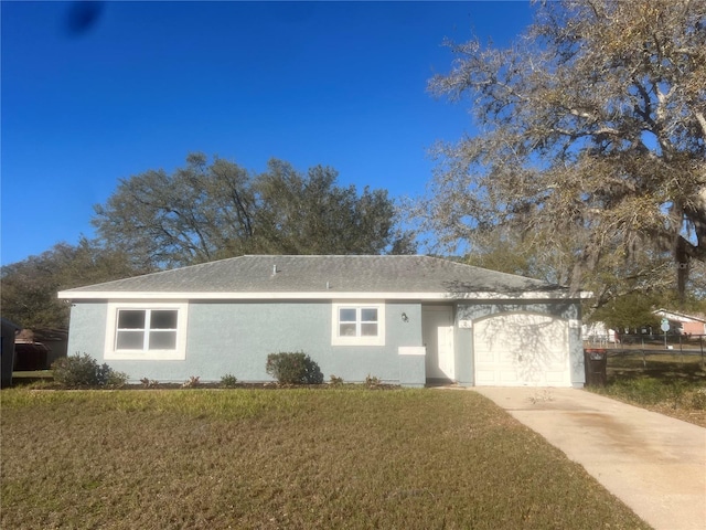
[[[242,256],[58,293],[68,351],[160,382],[271,381],[303,351],[324,378],[582,386],[566,288],[427,256]]]

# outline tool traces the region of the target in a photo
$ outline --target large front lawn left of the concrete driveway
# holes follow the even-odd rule
[[[0,399],[2,528],[649,528],[474,392]]]

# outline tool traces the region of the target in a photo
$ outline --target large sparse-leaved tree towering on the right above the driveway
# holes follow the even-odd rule
[[[514,231],[575,290],[601,266],[684,290],[706,261],[706,0],[547,1],[510,49],[448,45],[429,88],[480,132],[437,146],[425,227],[471,250]]]

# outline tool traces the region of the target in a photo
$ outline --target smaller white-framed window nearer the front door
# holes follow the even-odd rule
[[[331,316],[333,346],[384,346],[385,305],[334,303]]]

